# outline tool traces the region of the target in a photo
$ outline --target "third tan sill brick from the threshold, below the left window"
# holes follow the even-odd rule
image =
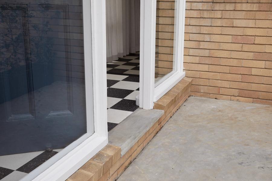
[[[93,174],[93,181],[97,181],[103,175],[103,164],[97,163],[93,160],[87,161],[79,170]]]

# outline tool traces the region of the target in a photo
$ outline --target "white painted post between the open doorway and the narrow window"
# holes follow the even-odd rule
[[[139,106],[153,109],[155,80],[156,0],[141,0]]]

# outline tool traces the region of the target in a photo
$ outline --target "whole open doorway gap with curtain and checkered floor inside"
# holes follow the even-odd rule
[[[106,0],[108,131],[139,106],[140,0]]]

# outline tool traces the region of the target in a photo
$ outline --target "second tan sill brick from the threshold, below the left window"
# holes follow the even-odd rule
[[[91,160],[103,165],[103,174],[112,167],[112,155],[105,152],[99,151]]]

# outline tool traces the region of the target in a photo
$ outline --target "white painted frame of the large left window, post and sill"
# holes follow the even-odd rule
[[[66,180],[108,143],[106,5],[105,1],[82,1],[87,133],[26,175],[23,181]]]

